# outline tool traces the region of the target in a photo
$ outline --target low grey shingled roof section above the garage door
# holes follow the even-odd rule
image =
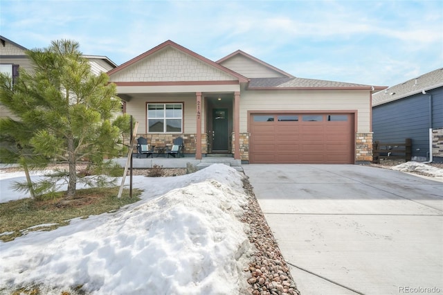
[[[327,80],[305,79],[305,78],[253,78],[248,84],[251,90],[332,90],[332,89],[354,89],[354,90],[380,90],[386,87],[371,86],[366,84],[354,84]]]

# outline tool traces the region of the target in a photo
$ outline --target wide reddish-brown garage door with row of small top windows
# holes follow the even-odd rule
[[[354,163],[354,114],[251,114],[250,163]]]

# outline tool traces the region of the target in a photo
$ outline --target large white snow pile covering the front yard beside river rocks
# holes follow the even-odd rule
[[[6,179],[20,177],[5,176],[1,202],[13,195]],[[238,220],[247,202],[242,175],[215,164],[133,183],[143,200],[116,213],[0,242],[0,290],[42,284],[45,294],[78,285],[92,294],[242,293],[251,247]]]

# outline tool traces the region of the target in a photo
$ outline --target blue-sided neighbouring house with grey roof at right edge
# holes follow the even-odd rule
[[[372,96],[374,141],[412,139],[414,161],[443,162],[443,68]]]

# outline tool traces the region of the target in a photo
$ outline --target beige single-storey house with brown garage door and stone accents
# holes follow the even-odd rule
[[[369,163],[372,92],[386,88],[296,78],[243,51],[213,62],[170,40],[108,75],[151,145],[181,136],[188,157],[242,163]]]

